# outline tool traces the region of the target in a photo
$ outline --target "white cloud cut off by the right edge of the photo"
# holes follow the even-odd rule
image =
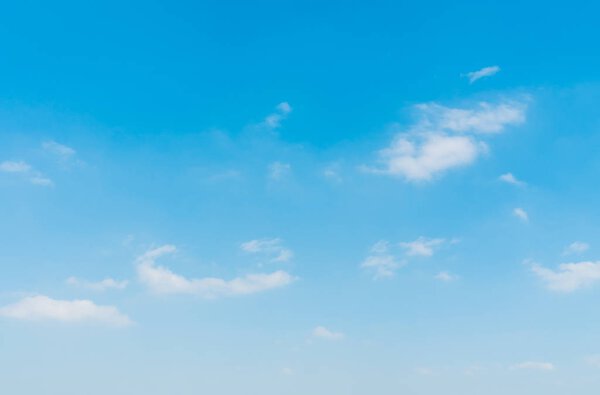
[[[531,271],[549,290],[557,292],[573,292],[600,281],[600,261],[562,263],[556,271],[533,263]]]

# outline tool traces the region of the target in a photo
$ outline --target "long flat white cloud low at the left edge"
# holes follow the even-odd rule
[[[127,326],[131,320],[113,306],[98,306],[90,300],[56,300],[30,296],[0,308],[0,316],[24,321],[60,321]]]

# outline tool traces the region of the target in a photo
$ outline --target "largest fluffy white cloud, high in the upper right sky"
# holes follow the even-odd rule
[[[488,151],[479,135],[500,133],[523,123],[526,106],[520,102],[481,102],[472,108],[451,108],[427,103],[415,109],[418,121],[379,151],[380,166],[363,166],[364,171],[415,182],[473,164]]]

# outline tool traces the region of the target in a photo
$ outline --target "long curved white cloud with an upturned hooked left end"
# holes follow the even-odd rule
[[[248,274],[232,280],[214,277],[187,279],[155,264],[157,258],[175,251],[175,246],[165,245],[150,250],[137,259],[138,277],[153,292],[217,298],[263,292],[284,287],[294,281],[294,277],[281,270],[269,274]]]

